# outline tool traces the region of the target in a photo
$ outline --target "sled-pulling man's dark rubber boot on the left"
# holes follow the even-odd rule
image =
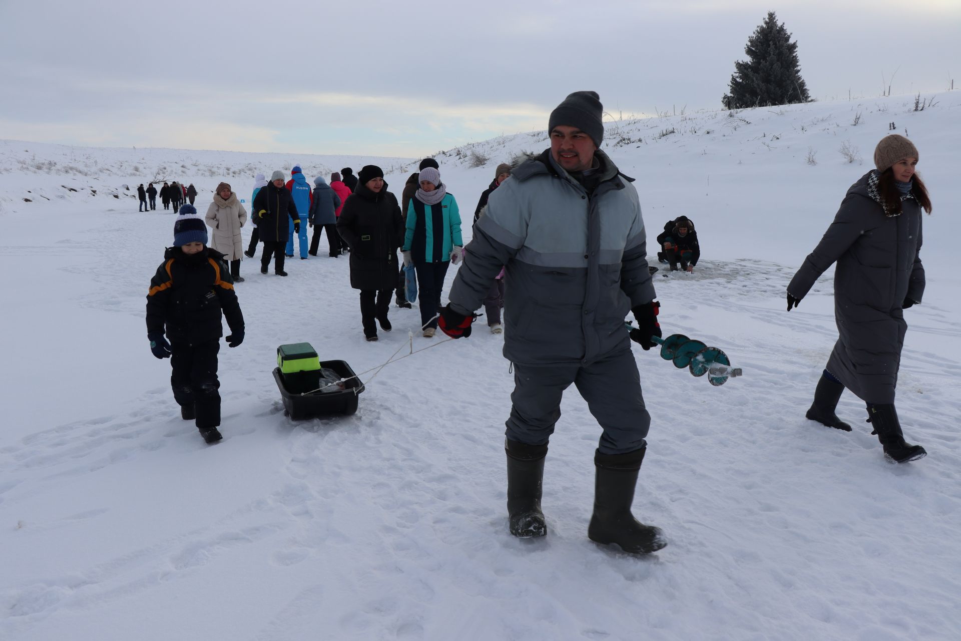
[[[505,439],[507,455],[507,514],[510,533],[520,538],[545,536],[547,523],[540,509],[547,444],[527,445]]]

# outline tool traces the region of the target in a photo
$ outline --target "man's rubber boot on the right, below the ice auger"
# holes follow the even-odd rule
[[[646,555],[667,545],[661,530],[646,526],[630,513],[634,486],[647,448],[628,454],[594,455],[594,515],[587,537],[595,543],[618,545],[634,555]]]

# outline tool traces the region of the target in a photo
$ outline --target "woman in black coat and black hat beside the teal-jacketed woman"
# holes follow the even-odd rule
[[[404,242],[404,222],[380,167],[365,165],[358,178],[357,189],[340,210],[337,232],[351,248],[351,286],[360,290],[364,336],[377,340],[375,320],[384,332],[391,329],[387,312],[397,286],[397,250]]]

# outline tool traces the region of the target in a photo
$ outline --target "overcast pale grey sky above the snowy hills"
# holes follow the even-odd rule
[[[0,138],[418,157],[579,89],[714,110],[768,11],[817,99],[961,87],[961,0],[0,0]]]

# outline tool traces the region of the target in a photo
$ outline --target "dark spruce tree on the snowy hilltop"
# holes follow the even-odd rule
[[[790,105],[811,99],[801,78],[798,43],[791,41],[783,22],[777,24],[775,12],[768,12],[754,30],[744,52],[748,60],[734,62],[730,93],[722,99],[725,109]]]

